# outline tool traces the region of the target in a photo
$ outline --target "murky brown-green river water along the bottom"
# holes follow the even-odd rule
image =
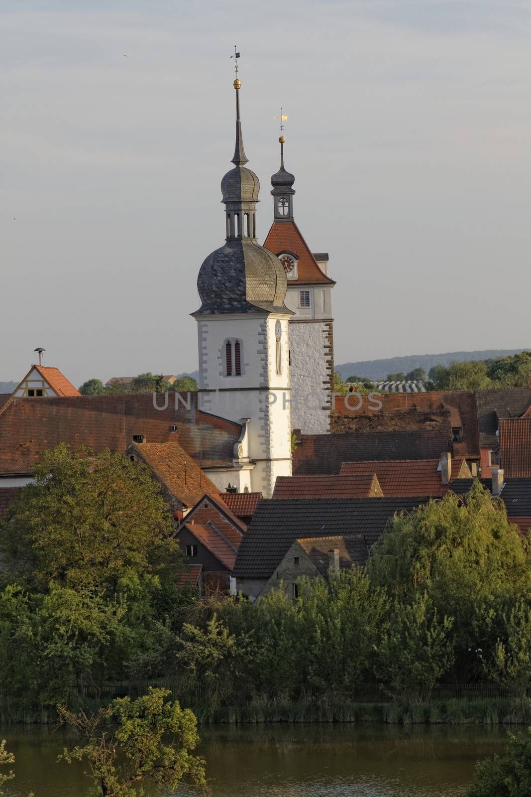
[[[478,758],[500,752],[505,728],[385,724],[201,728],[214,797],[458,797]],[[6,797],[84,797],[81,764],[57,764],[59,729],[11,726],[16,756]],[[150,795],[153,791],[146,790]]]

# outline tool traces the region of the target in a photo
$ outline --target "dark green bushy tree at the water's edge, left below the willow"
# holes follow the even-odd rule
[[[388,631],[377,646],[377,672],[391,694],[408,705],[428,701],[453,662],[453,618],[439,620],[427,593],[395,602]]]

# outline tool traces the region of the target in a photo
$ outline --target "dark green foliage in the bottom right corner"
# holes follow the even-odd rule
[[[479,761],[465,797],[531,797],[530,734],[510,733],[504,756]]]

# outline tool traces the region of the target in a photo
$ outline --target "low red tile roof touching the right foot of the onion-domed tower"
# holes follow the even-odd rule
[[[374,473],[337,476],[279,476],[273,498],[382,498],[380,483]]]

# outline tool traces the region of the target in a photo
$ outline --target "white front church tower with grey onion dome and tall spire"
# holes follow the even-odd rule
[[[236,487],[268,498],[276,477],[291,475],[288,321],[292,311],[284,304],[283,266],[256,240],[260,183],[245,166],[237,77],[234,88],[234,167],[221,180],[225,245],[201,265],[197,278],[201,307],[193,313],[199,344],[199,407],[243,423],[247,432],[244,445],[236,446]],[[216,481],[215,473],[209,472],[209,477]]]

